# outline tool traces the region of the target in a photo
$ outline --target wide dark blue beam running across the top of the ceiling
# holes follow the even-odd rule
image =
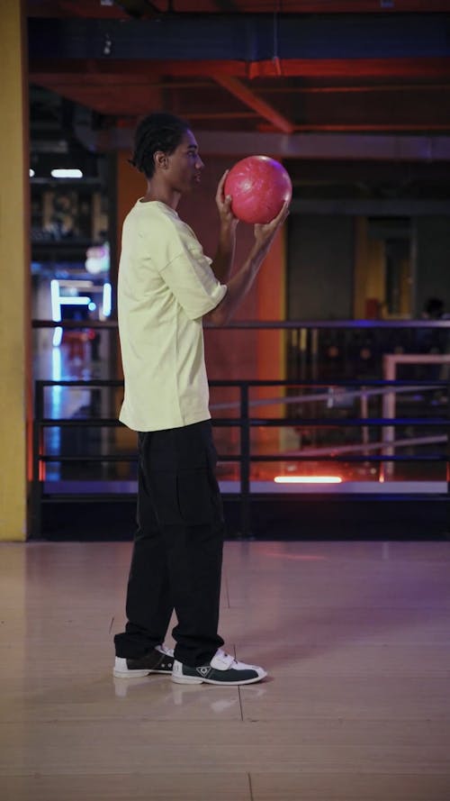
[[[450,59],[450,15],[279,15],[279,59]],[[104,47],[105,41],[110,45]],[[272,59],[272,14],[29,20],[30,59]],[[450,68],[449,68],[450,69]]]

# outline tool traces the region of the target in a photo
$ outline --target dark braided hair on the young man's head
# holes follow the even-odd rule
[[[175,117],[175,114],[148,114],[141,120],[134,134],[134,152],[129,159],[130,164],[151,178],[155,172],[154,156],[157,150],[168,155],[173,153],[189,127],[189,123],[181,117]]]

